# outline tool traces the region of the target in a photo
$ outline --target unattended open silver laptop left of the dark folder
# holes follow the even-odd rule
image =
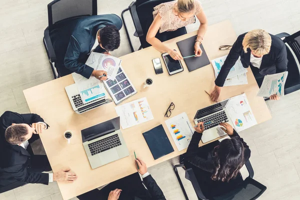
[[[119,116],[81,130],[81,137],[92,169],[129,155]]]

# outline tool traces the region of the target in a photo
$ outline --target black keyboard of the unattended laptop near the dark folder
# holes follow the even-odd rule
[[[88,144],[88,148],[90,150],[91,155],[95,155],[119,145],[121,145],[120,138],[118,137],[117,134],[114,134],[111,135],[110,137],[106,137],[99,141],[95,141],[93,143]]]

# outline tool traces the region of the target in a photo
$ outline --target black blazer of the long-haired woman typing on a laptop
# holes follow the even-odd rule
[[[184,164],[189,165],[191,166],[191,168],[193,168],[195,176],[205,197],[211,198],[211,196],[222,195],[230,190],[232,191],[238,184],[242,183],[243,179],[241,177],[241,174],[238,174],[235,178],[231,178],[229,182],[212,180],[211,175],[214,169],[214,165],[212,162],[212,158],[209,155],[211,155],[214,146],[219,144],[219,141],[214,141],[214,145],[211,146],[210,149],[205,148],[205,146],[208,146],[209,144],[198,147],[201,137],[202,133],[193,133],[186,153],[184,154],[185,162],[188,162],[188,164]],[[240,139],[244,146],[244,161],[247,161],[251,154],[249,146],[246,144],[246,142],[243,141],[242,138],[239,137],[235,130],[233,132],[233,135],[230,137],[238,137]],[[206,158],[200,157],[199,154],[206,154]],[[187,168],[189,168],[189,166],[187,166]]]

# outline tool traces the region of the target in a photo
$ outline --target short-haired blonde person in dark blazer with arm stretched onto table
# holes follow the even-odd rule
[[[284,42],[277,36],[262,29],[255,29],[239,35],[232,45],[221,70],[216,77],[214,89],[210,98],[216,101],[226,77],[240,56],[243,67],[250,68],[260,87],[264,75],[280,73],[287,70],[287,53]],[[271,95],[270,99],[277,100],[279,96]]]

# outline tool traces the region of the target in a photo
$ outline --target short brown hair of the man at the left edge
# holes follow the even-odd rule
[[[28,134],[28,128],[22,124],[8,126],[5,130],[5,139],[10,144],[23,143],[25,135]]]

